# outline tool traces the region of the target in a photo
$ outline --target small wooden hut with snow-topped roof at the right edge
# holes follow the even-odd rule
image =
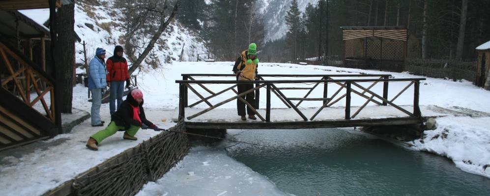
[[[490,90],[490,41],[480,45],[476,50],[478,51],[478,62],[475,84]]]

